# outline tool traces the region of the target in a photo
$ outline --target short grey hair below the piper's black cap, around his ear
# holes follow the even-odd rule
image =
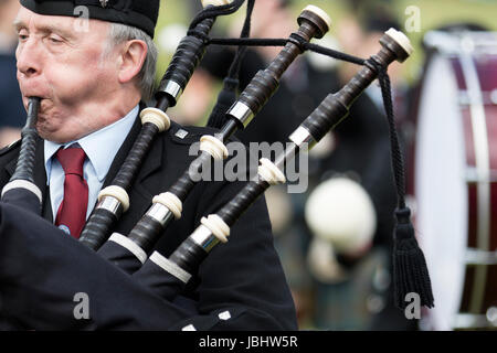
[[[139,72],[138,88],[141,92],[141,99],[148,101],[151,99],[156,83],[156,67],[158,50],[154,40],[144,31],[121,23],[110,23],[109,30],[109,46],[108,50],[115,45],[121,44],[126,41],[140,40],[147,44],[148,52],[145,58],[144,66]]]

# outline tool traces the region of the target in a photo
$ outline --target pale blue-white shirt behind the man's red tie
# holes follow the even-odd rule
[[[86,218],[88,218],[97,202],[98,193],[110,169],[110,164],[131,130],[138,111],[139,106],[137,105],[124,118],[76,141],[62,145],[44,141],[46,184],[50,186],[50,201],[54,222],[59,206],[64,199],[65,174],[61,163],[59,163],[56,158],[52,157],[61,147],[67,148],[72,145],[78,145],[85,151],[87,158],[83,164],[83,176],[88,184],[88,208],[86,211]]]

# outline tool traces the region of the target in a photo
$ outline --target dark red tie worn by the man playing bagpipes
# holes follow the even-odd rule
[[[86,222],[88,206],[88,184],[83,178],[85,151],[81,148],[60,149],[56,159],[64,169],[64,200],[55,217],[55,225],[68,231],[76,239]]]

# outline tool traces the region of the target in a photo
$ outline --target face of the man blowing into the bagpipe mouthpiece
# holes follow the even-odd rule
[[[42,138],[55,142],[72,141],[105,126],[99,114],[118,87],[116,52],[106,53],[109,24],[89,20],[83,31],[77,21],[25,8],[14,21],[24,106],[31,96],[42,98],[36,128]]]

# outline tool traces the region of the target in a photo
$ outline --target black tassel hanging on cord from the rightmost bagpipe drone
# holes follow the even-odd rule
[[[393,234],[393,284],[394,301],[400,309],[410,303],[408,293],[420,296],[421,306],[433,308],[433,293],[426,260],[420,249],[409,207],[395,210],[396,224]]]

